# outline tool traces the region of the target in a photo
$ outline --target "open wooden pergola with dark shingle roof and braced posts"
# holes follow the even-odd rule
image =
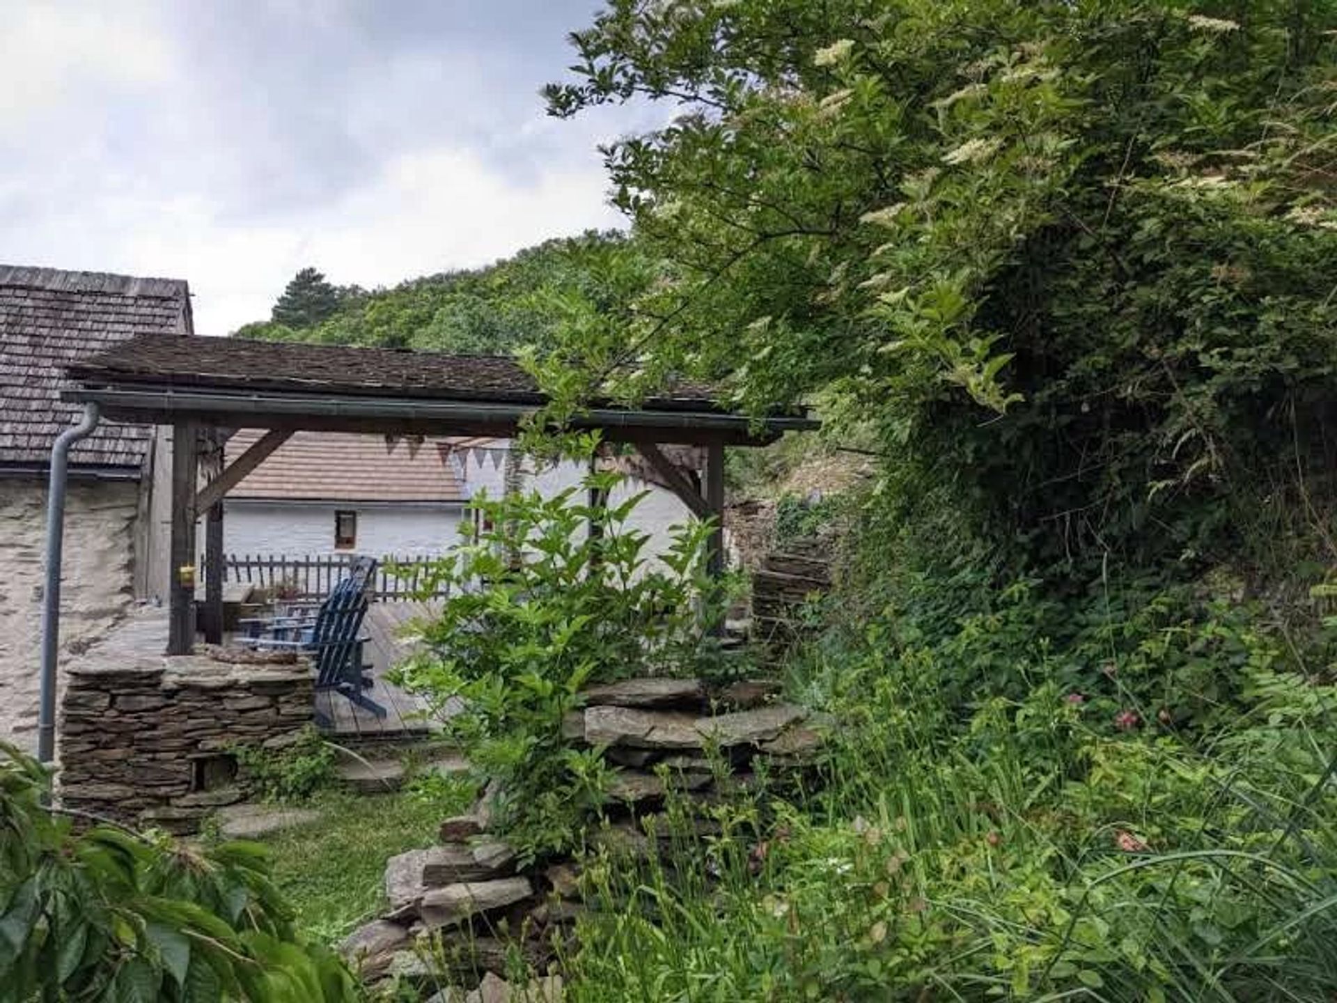
[[[168,425],[171,590],[167,654],[190,654],[197,522],[205,530],[205,626],[222,631],[223,497],[294,432],[386,436],[476,435],[512,439],[547,403],[509,357],[203,337],[142,337],[67,368],[66,400],[95,405],[110,421]],[[723,567],[725,448],[765,445],[786,431],[818,427],[806,412],[749,417],[721,408],[710,388],[679,385],[636,408],[594,401],[571,425],[634,445],[695,516],[715,520],[711,568]],[[233,431],[265,429],[223,465]],[[202,444],[213,447],[201,484]],[[675,465],[660,445],[703,447],[703,476]]]

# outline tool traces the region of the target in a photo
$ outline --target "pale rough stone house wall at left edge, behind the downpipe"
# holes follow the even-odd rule
[[[64,663],[134,600],[136,481],[71,480],[60,654]],[[47,543],[44,480],[0,479],[0,740],[33,752]]]

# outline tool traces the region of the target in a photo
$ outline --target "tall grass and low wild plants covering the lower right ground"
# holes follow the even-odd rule
[[[841,722],[814,776],[591,861],[572,999],[1334,998],[1333,687],[1246,669],[1190,737],[1054,682],[963,714],[933,651],[845,654],[804,681]]]

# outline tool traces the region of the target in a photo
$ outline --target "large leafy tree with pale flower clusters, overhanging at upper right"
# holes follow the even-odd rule
[[[614,0],[547,94],[678,103],[607,151],[668,281],[556,358],[824,393],[898,457],[886,497],[949,491],[1029,558],[1238,558],[1333,493],[1334,29],[1332,0]]]

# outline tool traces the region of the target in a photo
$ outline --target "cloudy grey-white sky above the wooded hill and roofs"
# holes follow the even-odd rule
[[[619,223],[543,114],[598,0],[4,0],[0,262],[190,281],[195,326],[297,269],[364,286]]]

